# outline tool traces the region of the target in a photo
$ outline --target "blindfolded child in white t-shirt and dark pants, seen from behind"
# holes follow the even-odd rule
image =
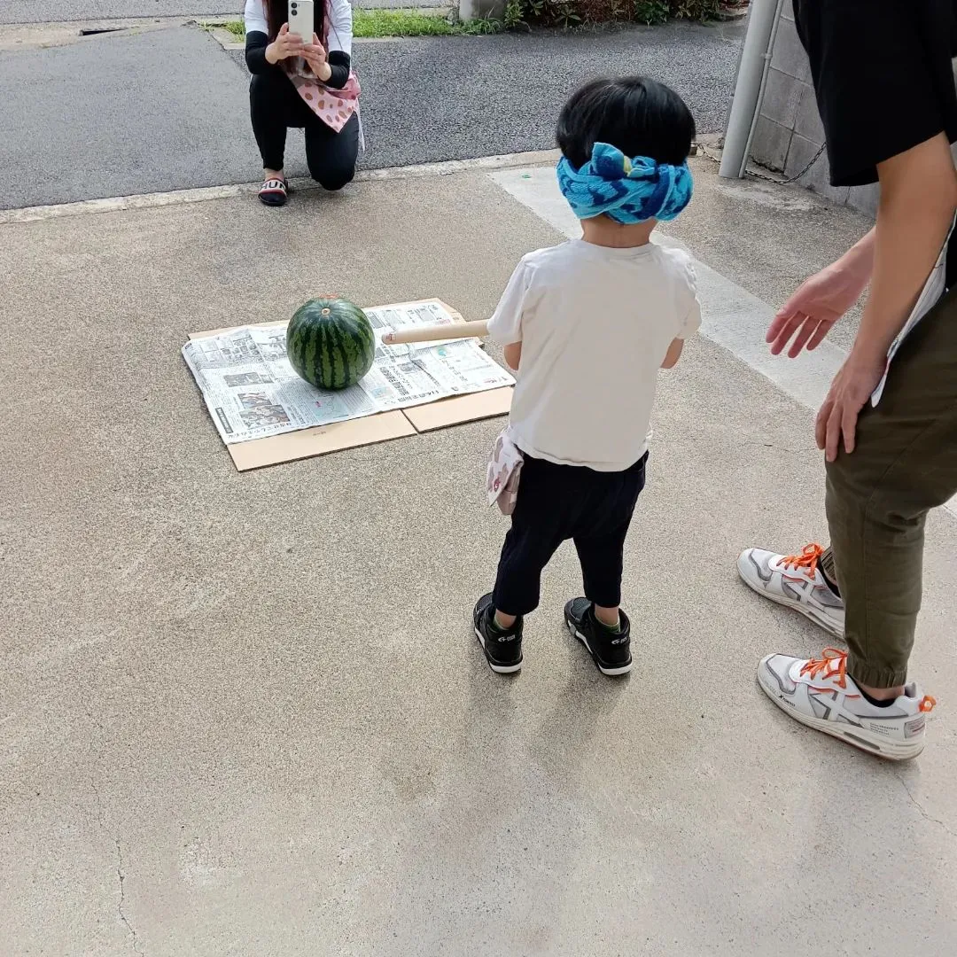
[[[495,672],[521,669],[523,616],[567,539],[585,585],[565,606],[568,629],[603,674],[631,670],[622,558],[657,370],[678,362],[701,324],[689,257],[650,236],[691,199],[694,135],[678,94],[651,79],[595,80],[562,110],[558,180],[582,238],[525,256],[489,322],[518,372],[497,456],[504,446],[521,463],[495,590],[473,615]]]

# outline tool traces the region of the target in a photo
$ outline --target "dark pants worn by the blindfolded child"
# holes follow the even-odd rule
[[[625,536],[645,487],[648,454],[624,472],[595,472],[524,456],[512,527],[501,549],[493,600],[503,614],[527,614],[539,603],[542,569],[572,539],[585,597],[604,608],[621,604]]]

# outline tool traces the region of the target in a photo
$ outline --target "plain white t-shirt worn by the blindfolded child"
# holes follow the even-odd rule
[[[691,258],[572,239],[524,256],[489,321],[522,343],[508,432],[524,453],[620,472],[645,454],[658,368],[701,325]]]

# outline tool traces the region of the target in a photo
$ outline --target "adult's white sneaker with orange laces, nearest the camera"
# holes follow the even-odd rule
[[[860,693],[846,666],[847,653],[836,648],[810,660],[768,655],[758,667],[758,684],[795,721],[891,761],[917,757],[937,702],[908,684],[897,701],[879,708]]]

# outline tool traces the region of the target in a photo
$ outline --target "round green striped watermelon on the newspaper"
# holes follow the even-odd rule
[[[347,389],[372,367],[375,336],[366,313],[346,300],[309,300],[286,327],[289,362],[319,389]]]

